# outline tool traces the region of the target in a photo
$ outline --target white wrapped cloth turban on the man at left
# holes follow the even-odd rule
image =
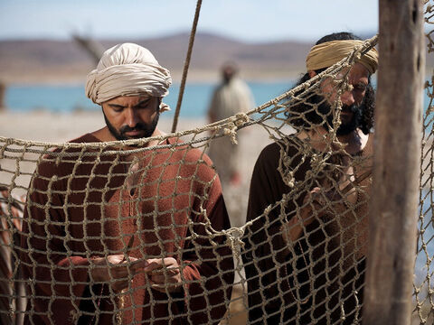
[[[86,96],[95,104],[118,96],[165,97],[172,84],[169,70],[150,51],[134,43],[118,44],[105,51],[96,70],[86,78]],[[162,104],[161,111],[169,109]]]

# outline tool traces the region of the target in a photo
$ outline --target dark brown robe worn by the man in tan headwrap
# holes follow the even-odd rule
[[[259,154],[252,174],[246,221],[262,217],[246,228],[243,238],[251,324],[353,324],[360,320],[365,258],[349,253],[354,244],[348,243],[354,243],[354,228],[363,232],[367,223],[343,232],[343,220],[353,223],[354,217],[325,214],[307,226],[305,235],[289,244],[289,250],[281,236],[283,221],[297,218],[307,193],[332,177],[326,172],[309,175],[311,156],[300,153],[303,145],[295,136],[280,145],[269,144]],[[289,160],[288,170],[283,168],[282,173],[294,172],[294,188],[278,171],[282,150]],[[276,205],[288,193],[287,205]],[[354,215],[354,211],[348,213]]]

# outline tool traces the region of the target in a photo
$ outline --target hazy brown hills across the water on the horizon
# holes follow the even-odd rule
[[[189,33],[156,39],[99,40],[105,48],[137,42],[152,51],[161,65],[181,79]],[[219,68],[235,61],[245,79],[289,79],[304,70],[311,43],[247,43],[211,33],[195,37],[188,80],[218,79]],[[94,69],[90,55],[74,41],[0,41],[0,79],[7,83],[83,82]]]

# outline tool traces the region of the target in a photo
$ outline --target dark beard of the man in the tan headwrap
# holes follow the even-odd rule
[[[332,113],[332,107],[328,102],[321,96],[316,95],[316,98],[313,98],[316,103],[321,103],[318,105],[318,112],[324,116],[326,116],[326,123],[325,126],[328,127],[329,131],[333,129],[333,113]],[[350,133],[354,132],[358,127],[361,127],[363,124],[363,114],[364,114],[365,104],[364,100],[361,104],[356,105],[353,104],[352,106],[342,106],[343,112],[352,112],[353,116],[350,121],[343,122],[336,130],[336,135],[349,135]]]

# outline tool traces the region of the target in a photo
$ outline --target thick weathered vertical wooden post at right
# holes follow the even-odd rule
[[[373,200],[363,324],[410,324],[422,89],[423,0],[380,0]]]

